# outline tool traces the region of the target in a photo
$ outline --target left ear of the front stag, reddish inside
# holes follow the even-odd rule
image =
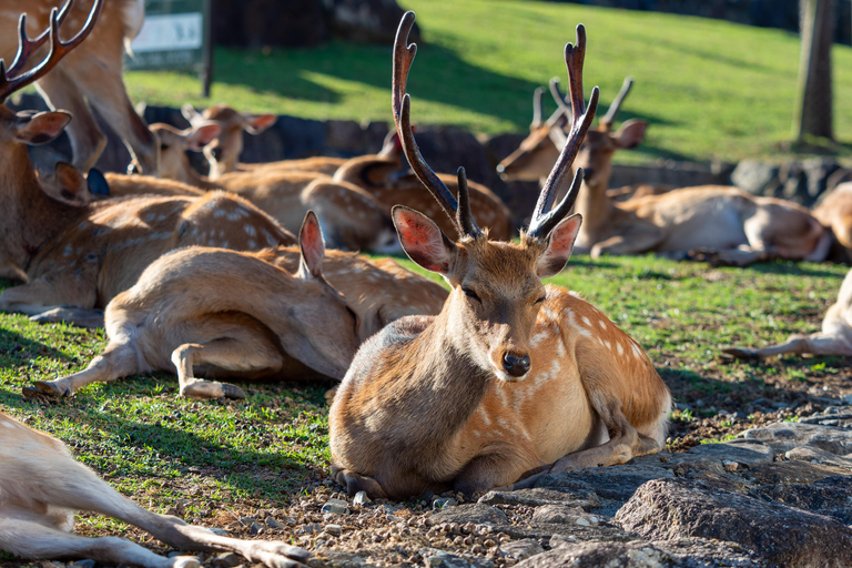
[[[438,225],[423,213],[403,205],[396,205],[392,215],[405,254],[422,268],[446,276],[455,245]]]

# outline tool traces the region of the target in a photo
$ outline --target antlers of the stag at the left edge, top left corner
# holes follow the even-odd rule
[[[92,31],[92,28],[94,27],[94,22],[98,21],[98,17],[101,13],[101,8],[103,8],[104,0],[95,0],[94,4],[92,6],[92,10],[89,12],[89,18],[85,20],[85,23],[83,24],[82,29],[71,38],[70,40],[63,42],[59,39],[59,12],[55,8],[53,8],[50,12],[50,30],[48,30],[48,37],[50,38],[50,51],[48,52],[48,57],[38,65],[30,69],[26,73],[21,73],[18,77],[14,77],[12,79],[9,79],[9,74],[6,71],[3,67],[0,67],[0,101],[4,101],[10,94],[12,94],[14,91],[39,80],[41,77],[43,77],[48,71],[53,69],[59,61],[65,57],[71,50],[77,48]],[[64,11],[64,8],[63,8]],[[41,38],[41,36],[39,36]],[[38,41],[38,39],[37,39]],[[44,40],[41,40],[42,42]],[[23,30],[23,23],[19,24],[19,38],[18,38],[18,50],[19,52],[28,51],[28,44],[32,43],[30,40],[26,38],[26,31]],[[29,51],[22,55],[16,55],[13,67],[21,68],[27,64],[27,57],[32,53],[34,49],[29,49]]]

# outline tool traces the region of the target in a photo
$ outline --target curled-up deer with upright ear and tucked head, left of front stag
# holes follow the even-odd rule
[[[363,339],[403,315],[437,313],[446,297],[396,263],[383,270],[336,251],[324,263],[329,285],[312,212],[300,247],[189,247],[162,256],[106,306],[104,352],[85,371],[26,393],[70,396],[90,383],[154,369],[176,369],[181,395],[191,398],[245,397],[194,369],[210,377],[339,379]]]

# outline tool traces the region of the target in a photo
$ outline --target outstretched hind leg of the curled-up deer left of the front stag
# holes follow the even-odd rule
[[[24,387],[26,395],[44,394],[71,396],[91,383],[110,383],[142,371],[139,367],[135,348],[128,343],[111,343],[103,354],[92,359],[85,371],[55,381],[37,381],[32,387]]]

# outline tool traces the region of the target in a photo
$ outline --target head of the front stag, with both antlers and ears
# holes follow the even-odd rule
[[[405,92],[416,45],[407,45],[414,12],[407,12],[394,45],[392,105],[394,120],[412,169],[453,219],[455,239],[445,235],[434,221],[412,209],[397,205],[394,224],[406,254],[419,266],[437,272],[452,292],[442,316],[447,339],[481,369],[507,382],[523,381],[530,362],[530,334],[546,291],[541,278],[561,271],[570,257],[580,229],[579,215],[568,216],[582,180],[575,174],[568,194],[554,209],[556,191],[568,171],[598,101],[592,89],[589,109],[582,97],[585,29],[577,27],[577,45],[565,49],[574,111],[571,128],[550,176],[536,204],[530,226],[521,232],[520,244],[488,241],[474,221],[464,169],[458,170],[458,199],[432,171],[420,155],[410,124],[410,97]]]

